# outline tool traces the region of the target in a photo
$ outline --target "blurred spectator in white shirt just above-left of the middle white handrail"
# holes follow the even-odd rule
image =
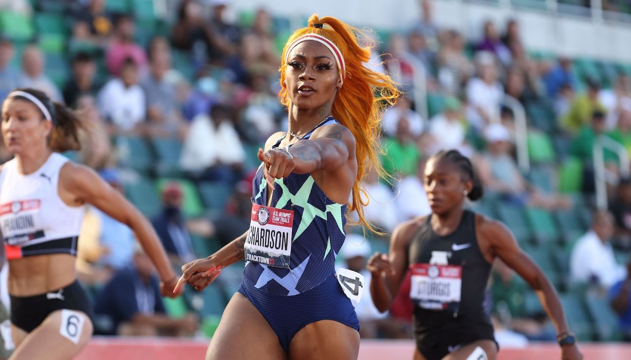
[[[483,128],[485,124],[499,119],[504,89],[497,81],[497,68],[490,53],[478,53],[476,62],[478,77],[469,80],[466,87],[469,102],[467,118],[474,127]]]

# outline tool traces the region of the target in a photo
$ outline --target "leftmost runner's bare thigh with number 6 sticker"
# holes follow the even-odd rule
[[[44,322],[21,341],[11,360],[72,359],[88,344],[91,337],[92,322],[85,313],[57,310],[50,313]]]

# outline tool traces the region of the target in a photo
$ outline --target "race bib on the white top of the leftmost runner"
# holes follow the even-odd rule
[[[0,227],[4,242],[23,246],[30,240],[45,237],[40,222],[40,200],[11,201],[0,205]]]

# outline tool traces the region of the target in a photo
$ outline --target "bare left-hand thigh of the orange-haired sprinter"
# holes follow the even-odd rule
[[[232,296],[210,340],[206,360],[285,360],[285,351],[263,315],[240,293]]]

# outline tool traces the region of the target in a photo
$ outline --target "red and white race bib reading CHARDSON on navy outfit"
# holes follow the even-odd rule
[[[245,261],[289,269],[292,254],[293,211],[252,204]]]

